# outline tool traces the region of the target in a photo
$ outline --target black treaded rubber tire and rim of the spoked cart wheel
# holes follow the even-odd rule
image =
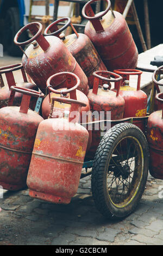
[[[114,204],[113,200],[111,199],[111,196],[110,196],[111,190],[110,191],[108,190],[107,176],[112,175],[114,176],[115,180],[117,179],[117,176],[115,178],[115,172],[112,173],[112,169],[111,171],[109,171],[109,168],[111,168],[109,164],[111,163],[111,160],[112,160],[111,158],[112,153],[113,152],[115,153],[115,149],[117,149],[118,145],[120,145],[118,143],[121,143],[123,141],[123,138],[125,137],[126,138],[128,137],[128,140],[133,139],[134,143],[136,144],[135,147],[137,147],[137,150],[138,150],[137,152],[141,152],[141,156],[139,153],[137,154],[139,155],[139,160],[136,160],[136,157],[137,157],[136,156],[134,163],[137,164],[138,162],[136,161],[139,161],[139,163],[141,162],[142,165],[141,167],[139,167],[140,164],[138,164],[138,167],[137,166],[135,167],[135,164],[134,164],[134,171],[132,174],[133,182],[136,180],[135,178],[135,175],[136,175],[136,177],[138,177],[136,182],[139,182],[139,186],[135,185],[137,186],[136,187],[137,190],[134,188],[135,193],[134,193],[134,196],[132,196],[131,194],[131,198],[132,198],[131,202],[130,200],[128,200],[128,204],[126,203],[126,205],[124,204],[124,206],[123,205],[121,206],[121,205],[118,205],[118,203]],[[134,151],[134,154],[136,154],[135,151]],[[133,161],[133,159],[131,161]],[[131,166],[131,163],[130,163],[130,166]],[[139,203],[142,197],[143,191],[145,190],[147,176],[148,176],[148,167],[149,167],[148,144],[147,144],[145,135],[143,135],[142,131],[137,126],[129,123],[121,123],[121,124],[115,125],[108,132],[106,132],[101,142],[98,145],[95,159],[93,161],[92,175],[91,175],[92,197],[95,202],[96,208],[99,210],[99,212],[101,212],[101,214],[106,218],[114,218],[114,219],[122,219],[130,215],[131,212],[135,210],[137,204]],[[136,174],[136,172],[139,172],[139,170],[137,169],[141,169],[140,180],[139,180],[139,175]],[[116,170],[116,168],[114,170]],[[120,178],[120,175],[119,175],[118,179],[122,179],[122,176]],[[124,179],[122,180],[124,181]],[[117,181],[115,183],[118,184]],[[126,181],[126,184],[127,184],[127,181]],[[134,187],[133,184],[131,184],[131,188],[133,187]],[[134,189],[133,191],[130,189],[131,193],[134,192]],[[118,191],[118,188],[116,188],[116,190]],[[127,193],[129,196],[130,191]]]

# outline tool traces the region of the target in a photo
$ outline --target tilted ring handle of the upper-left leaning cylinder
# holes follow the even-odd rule
[[[39,27],[39,28],[38,28]],[[29,29],[29,31],[32,33],[33,37],[30,38],[27,41],[24,42],[18,42],[18,38],[19,36],[24,32],[27,31],[27,29]],[[16,45],[18,45],[20,48],[23,45],[28,45],[31,42],[33,42],[34,40],[37,41],[37,43],[40,45],[40,47],[42,48],[42,50],[44,52],[47,51],[48,47],[49,47],[49,43],[48,41],[45,39],[45,37],[41,34],[42,32],[42,24],[40,22],[31,22],[29,24],[27,24],[26,26],[22,27],[20,29],[20,31],[17,32],[17,34],[15,35],[14,38],[14,42]],[[21,48],[22,50],[22,48]],[[23,50],[22,50],[23,51]],[[24,52],[24,51],[23,51]],[[25,53],[26,54],[26,53]]]

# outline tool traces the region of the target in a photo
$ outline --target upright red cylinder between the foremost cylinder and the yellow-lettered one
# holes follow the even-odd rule
[[[100,75],[99,75],[100,74]],[[109,78],[106,77],[109,76]],[[119,95],[122,77],[110,71],[96,71],[93,72],[95,76],[93,89],[89,90],[87,97],[90,101],[90,108],[92,112],[92,121],[102,120],[117,120],[122,119],[124,111],[124,99]],[[105,81],[103,86],[101,81]],[[110,82],[118,82],[119,88],[117,92],[110,90]],[[107,84],[106,84],[107,83]],[[92,125],[92,144],[89,152],[86,154],[88,159],[93,159],[98,144],[101,139],[101,130],[103,130],[102,123]],[[105,129],[108,131],[111,128],[111,124]],[[106,132],[106,131],[105,131]]]

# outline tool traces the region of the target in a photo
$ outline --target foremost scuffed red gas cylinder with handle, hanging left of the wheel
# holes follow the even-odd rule
[[[76,194],[82,172],[89,133],[78,124],[80,108],[85,103],[52,97],[54,101],[71,104],[68,118],[48,118],[37,130],[27,176],[29,196],[58,204],[68,204]],[[71,118],[71,112],[78,112]]]

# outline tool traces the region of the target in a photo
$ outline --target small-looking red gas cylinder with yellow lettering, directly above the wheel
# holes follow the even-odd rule
[[[120,95],[125,101],[123,118],[135,117],[133,124],[138,126],[145,132],[145,119],[147,115],[147,94],[140,90],[140,81],[142,71],[136,69],[118,69],[114,72],[123,77],[120,87]],[[137,76],[137,87],[129,86],[129,79],[131,75]],[[117,83],[115,83],[114,91],[117,90]]]

